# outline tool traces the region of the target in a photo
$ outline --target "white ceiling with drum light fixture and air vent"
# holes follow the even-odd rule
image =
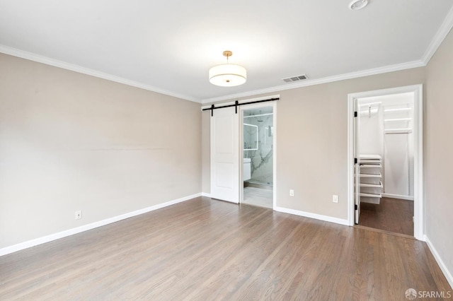
[[[0,52],[210,102],[423,66],[453,25],[452,0],[349,3],[0,0]],[[208,81],[224,50],[244,85]]]

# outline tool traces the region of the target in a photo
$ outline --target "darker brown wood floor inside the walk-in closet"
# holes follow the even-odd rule
[[[360,203],[359,225],[413,236],[413,201],[382,198],[379,205]]]

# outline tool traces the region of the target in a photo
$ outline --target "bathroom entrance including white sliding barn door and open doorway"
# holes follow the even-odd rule
[[[211,114],[212,199],[275,208],[275,100],[279,99],[280,95],[272,95],[202,107],[203,111],[209,110]],[[244,182],[247,182],[245,202]]]

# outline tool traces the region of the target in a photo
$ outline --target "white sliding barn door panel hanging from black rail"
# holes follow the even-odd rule
[[[214,110],[211,118],[211,197],[239,203],[239,114]]]

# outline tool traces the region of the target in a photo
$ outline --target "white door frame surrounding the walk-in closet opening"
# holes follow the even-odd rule
[[[369,98],[383,95],[413,93],[414,94],[414,237],[425,241],[424,195],[423,195],[423,84],[406,85],[403,87],[372,90],[348,94],[348,221],[354,225],[354,111],[358,98]]]

